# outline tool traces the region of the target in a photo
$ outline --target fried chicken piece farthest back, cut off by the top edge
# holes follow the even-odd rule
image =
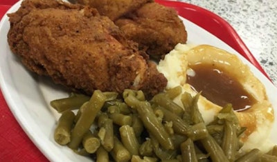
[[[76,0],[78,3],[97,8],[101,15],[109,17],[112,21],[132,12],[144,3],[152,0]]]

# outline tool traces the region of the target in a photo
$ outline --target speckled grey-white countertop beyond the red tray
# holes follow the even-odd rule
[[[276,0],[179,0],[206,8],[228,21],[277,86]]]

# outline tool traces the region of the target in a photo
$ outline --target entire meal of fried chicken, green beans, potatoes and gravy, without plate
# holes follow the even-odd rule
[[[79,2],[96,9],[25,0],[8,14],[8,43],[26,68],[92,94],[51,101],[57,143],[103,161],[276,161],[262,154],[274,145],[273,108],[238,57],[183,44],[177,12],[153,1]]]

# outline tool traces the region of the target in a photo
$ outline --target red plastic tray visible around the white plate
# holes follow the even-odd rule
[[[221,17],[199,6],[178,1],[156,0],[164,6],[175,8],[181,17],[192,21],[204,28],[215,37],[221,39],[232,48],[237,50],[243,57],[255,65],[265,76],[267,74],[253,57],[247,46],[238,36],[237,32]],[[0,0],[0,19],[17,0]],[[268,77],[267,77],[268,78]],[[0,123],[3,125],[0,137],[0,161],[48,161],[46,157],[28,139],[28,136],[20,128],[8,105],[0,92]],[[8,124],[7,124],[8,122]]]

